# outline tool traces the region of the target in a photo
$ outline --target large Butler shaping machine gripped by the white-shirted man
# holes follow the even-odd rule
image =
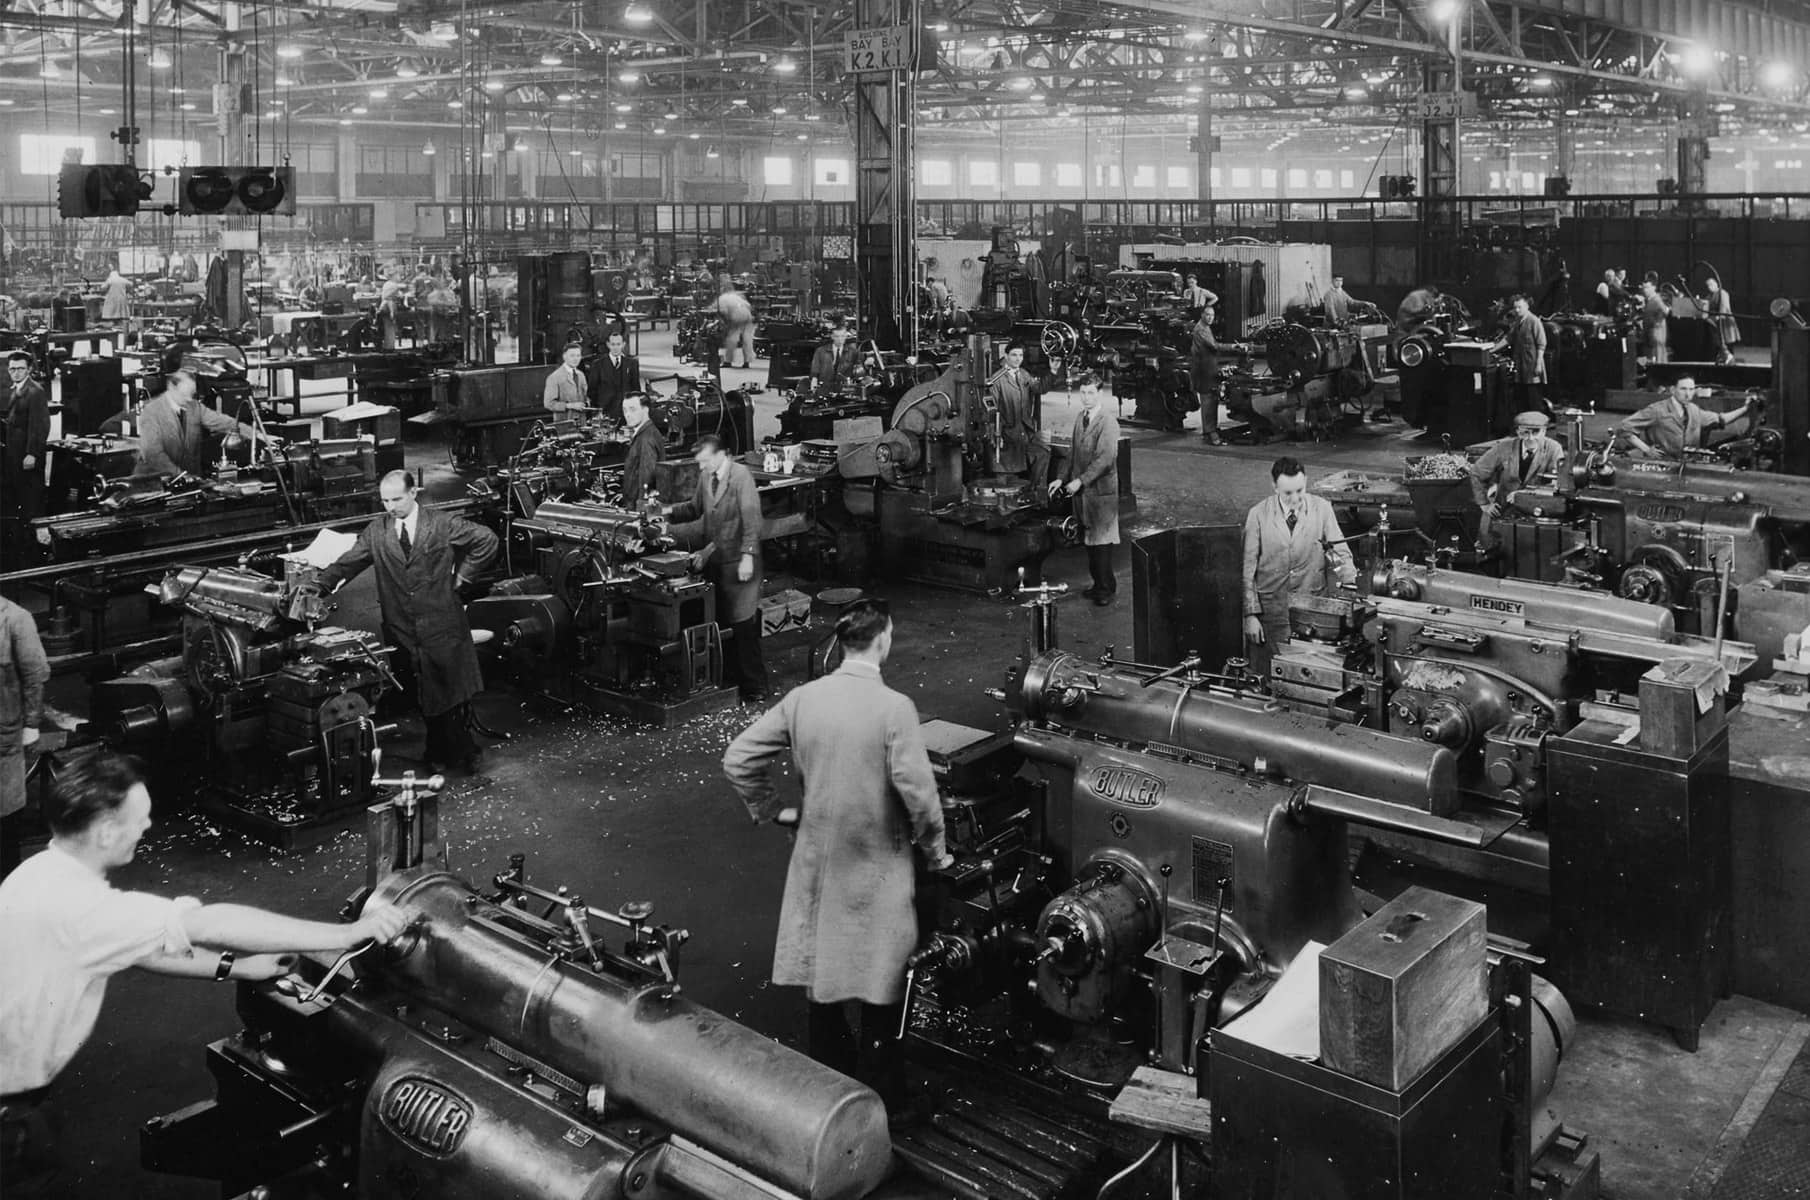
[[[241,985],[246,1028],[208,1050],[217,1099],[148,1122],[148,1167],[440,1200],[853,1200],[880,1184],[880,1097],[682,995],[684,930],[644,901],[605,912],[543,890],[521,856],[480,894],[443,869],[436,800],[402,782],[371,809],[362,903],[414,925],[331,970]]]

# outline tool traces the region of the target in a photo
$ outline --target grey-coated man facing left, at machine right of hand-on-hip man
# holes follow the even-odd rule
[[[760,659],[760,494],[755,476],[735,462],[722,438],[697,440],[697,494],[666,516],[672,536],[691,550],[691,567],[706,570],[717,588],[717,624],[735,641],[737,684],[742,699],[767,699],[767,668]]]

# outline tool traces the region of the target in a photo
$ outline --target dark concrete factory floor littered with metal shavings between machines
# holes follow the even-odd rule
[[[644,337],[648,369],[670,335]],[[753,378],[729,371],[729,384]],[[757,433],[769,433],[776,396],[757,404]],[[1046,404],[1046,424],[1064,429],[1073,405]],[[1137,536],[1158,527],[1229,523],[1269,487],[1278,452],[1312,471],[1386,469],[1406,452],[1399,427],[1365,427],[1339,445],[1207,449],[1198,434],[1131,431],[1140,516]],[[411,451],[420,465],[445,462],[440,447]],[[436,490],[456,480],[431,472]],[[1124,572],[1124,554],[1119,557]],[[1055,556],[1050,576],[1084,585],[1079,550]],[[1126,590],[1120,590],[1124,595]],[[887,679],[918,700],[923,715],[999,728],[1003,710],[985,697],[1023,643],[1023,612],[1005,601],[916,586],[889,588],[898,621]],[[369,579],[344,594],[342,619],[369,624]],[[1062,641],[1081,653],[1131,644],[1126,603],[1061,610]],[[767,646],[780,688],[804,679],[805,635]],[[767,983],[773,929],[789,842],[755,829],[722,784],[719,755],[751,719],[731,710],[675,731],[630,728],[585,715],[536,711],[512,695],[481,700],[491,724],[516,742],[491,753],[485,775],[460,782],[442,809],[454,867],[483,878],[510,851],[529,854],[530,876],[567,883],[592,903],[653,900],[657,919],[691,930],[682,979],[688,992],[787,1043],[804,1033],[800,997]],[[413,740],[411,740],[413,738]],[[395,751],[420,749],[418,729]],[[123,887],[192,894],[205,901],[268,905],[328,918],[358,883],[362,840],[277,854],[194,813],[159,813]],[[232,988],[127,972],[110,986],[100,1026],[60,1081],[71,1115],[69,1196],[210,1196],[194,1180],[138,1169],[136,1128],[212,1095],[203,1046],[235,1028]],[[1557,1104],[1569,1126],[1587,1131],[1604,1157],[1605,1195],[1616,1200],[1710,1196],[1745,1131],[1772,1099],[1783,1066],[1806,1032],[1801,1014],[1747,999],[1720,1005],[1694,1055],[1667,1033],[1625,1021],[1586,1019],[1562,1071]],[[1786,1195],[1754,1191],[1748,1195]]]

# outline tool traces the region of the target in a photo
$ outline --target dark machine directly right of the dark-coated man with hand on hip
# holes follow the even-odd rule
[[[467,615],[516,686],[657,726],[735,704],[715,590],[648,514],[550,500],[510,521],[507,547],[521,574]]]

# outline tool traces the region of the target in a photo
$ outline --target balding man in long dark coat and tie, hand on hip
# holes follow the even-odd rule
[[[478,744],[469,710],[483,675],[463,601],[496,561],[496,534],[424,509],[413,471],[386,474],[376,496],[384,516],[358,530],[358,541],[320,572],[320,586],[333,590],[376,568],[376,603],[384,641],[396,648],[396,679],[427,719],[427,766],[474,771]]]

